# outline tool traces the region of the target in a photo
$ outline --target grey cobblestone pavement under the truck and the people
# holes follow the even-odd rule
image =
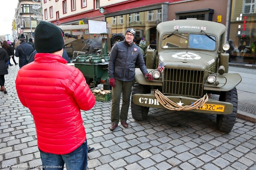
[[[35,125],[15,90],[18,66],[0,93],[1,169],[41,169]],[[216,129],[216,116],[151,108],[145,121],[128,115],[128,128],[110,126],[111,101],[82,111],[94,170],[256,170],[256,125],[237,119],[230,133]],[[75,167],[74,167],[75,169]]]

